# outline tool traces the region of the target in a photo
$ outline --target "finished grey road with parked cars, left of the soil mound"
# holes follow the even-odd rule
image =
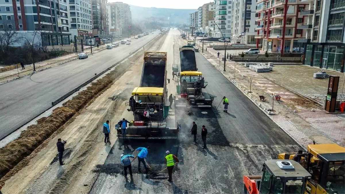
[[[133,39],[131,45],[120,44],[117,48],[89,55],[87,59],[74,60],[0,85],[0,139],[51,107],[51,102],[157,36],[155,32]]]

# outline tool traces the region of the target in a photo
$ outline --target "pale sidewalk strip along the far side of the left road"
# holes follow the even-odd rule
[[[99,48],[97,48],[96,46],[92,47],[92,53],[102,51],[102,50],[106,49],[106,47],[107,47],[107,45],[100,45]],[[80,50],[80,49],[81,49],[81,46],[78,45],[78,50]],[[56,57],[56,58],[48,59],[45,61],[36,62],[35,63],[36,71],[41,71],[41,70],[44,70],[47,68],[55,67],[55,66],[58,66],[60,64],[69,62],[71,60],[75,60],[78,58],[79,53],[77,53],[77,54],[72,53],[72,54],[68,54],[68,55],[63,55],[61,57]],[[84,53],[86,53],[86,54],[91,53],[90,46],[86,46],[86,48],[84,47]],[[21,69],[21,67],[20,67],[18,69],[12,69],[9,71],[0,72],[0,83],[30,75],[32,73],[32,70],[33,70],[33,66],[32,66],[32,64],[30,64],[30,65],[25,65],[25,69]]]

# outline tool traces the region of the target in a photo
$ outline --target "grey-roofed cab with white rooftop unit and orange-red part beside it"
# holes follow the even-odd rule
[[[243,176],[245,194],[307,194],[312,176],[298,162],[284,159],[265,161],[262,176]]]

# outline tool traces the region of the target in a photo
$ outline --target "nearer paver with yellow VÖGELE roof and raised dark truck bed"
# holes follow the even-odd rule
[[[133,112],[134,120],[127,129],[126,138],[177,138],[179,125],[167,127],[169,106],[167,98],[167,53],[145,52],[140,86],[134,88],[128,111]],[[119,137],[122,139],[122,136]]]

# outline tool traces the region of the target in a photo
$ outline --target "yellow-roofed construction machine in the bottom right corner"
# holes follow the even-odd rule
[[[282,153],[278,159],[292,159],[296,154]],[[314,142],[298,156],[300,164],[312,175],[306,183],[307,194],[345,193],[345,147]]]

